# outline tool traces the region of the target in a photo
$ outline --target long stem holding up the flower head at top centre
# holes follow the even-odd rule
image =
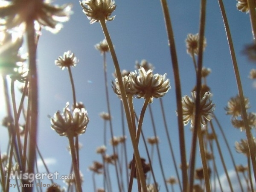
[[[103,33],[105,35],[105,38],[108,42],[108,47],[109,47],[109,50],[111,52],[111,56],[112,56],[112,59],[113,59],[113,64],[114,64],[114,67],[116,69],[116,76],[117,76],[117,80],[118,80],[118,83],[119,83],[121,98],[122,98],[124,109],[125,109],[125,115],[126,115],[126,119],[127,119],[127,123],[128,123],[128,129],[129,129],[130,137],[131,137],[131,143],[132,143],[133,148],[134,148],[134,156],[135,156],[135,160],[136,160],[136,164],[137,164],[137,169],[139,171],[138,176],[140,178],[143,178],[141,180],[142,188],[143,188],[143,191],[146,191],[147,187],[146,187],[145,178],[144,178],[144,174],[143,174],[142,163],[141,163],[141,160],[140,160],[140,153],[139,153],[139,149],[137,147],[137,143],[136,143],[136,140],[135,140],[136,136],[135,136],[135,133],[133,131],[134,128],[133,128],[132,122],[131,122],[131,113],[129,111],[128,101],[127,101],[126,94],[125,94],[125,87],[124,87],[124,84],[122,82],[121,70],[120,70],[120,67],[119,67],[119,64],[118,64],[118,61],[117,61],[116,52],[114,50],[113,43],[111,41],[111,37],[110,37],[109,32],[108,32],[108,28],[106,26],[105,18],[102,17],[99,21],[101,23],[102,30],[103,30]]]

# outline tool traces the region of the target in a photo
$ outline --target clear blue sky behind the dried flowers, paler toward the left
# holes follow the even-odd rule
[[[68,2],[67,0],[56,0],[54,3],[63,4]],[[168,1],[168,3],[175,34],[182,95],[190,95],[190,91],[195,86],[196,79],[192,58],[186,53],[185,39],[188,33],[195,34],[198,32],[200,1],[181,0]],[[167,123],[170,134],[172,135],[171,140],[175,149],[176,161],[180,163],[177,117],[175,114],[175,85],[160,1],[116,0],[116,5],[116,10],[113,12],[113,15],[116,15],[116,17],[113,21],[107,22],[107,26],[116,49],[120,68],[131,71],[135,70],[135,61],[140,62],[142,59],[146,59],[154,65],[154,73],[167,73],[167,77],[170,79],[172,89],[163,97],[163,102],[166,116],[168,116]],[[236,9],[235,0],[224,2],[224,5],[226,6],[233,44],[237,55],[244,95],[249,97],[251,105],[249,111],[253,112],[255,111],[256,89],[253,87],[253,81],[248,79],[248,75],[250,70],[255,67],[255,64],[249,62],[241,54],[244,46],[253,41],[249,14],[239,12]],[[100,119],[99,113],[107,111],[102,56],[94,48],[95,44],[104,39],[104,35],[99,23],[89,24],[89,22],[86,15],[82,12],[79,1],[75,1],[73,2],[73,15],[71,15],[67,23],[64,23],[64,28],[55,35],[43,30],[38,44],[40,92],[38,145],[43,156],[49,160],[50,170],[52,172],[59,171],[62,175],[67,175],[70,170],[71,157],[66,149],[68,140],[66,137],[58,136],[50,128],[50,120],[47,115],[53,116],[56,111],[62,111],[66,102],[72,103],[72,92],[67,70],[60,70],[55,66],[54,61],[67,50],[74,52],[79,59],[79,64],[75,68],[72,68],[76,96],[77,100],[83,102],[86,106],[90,117],[86,133],[80,136],[80,142],[83,144],[83,148],[80,151],[80,163],[81,172],[84,175],[83,189],[85,192],[93,191],[91,172],[87,171],[87,167],[91,165],[93,160],[101,160],[99,155],[95,153],[96,147],[103,144],[103,120]],[[241,154],[237,154],[233,146],[236,140],[244,139],[246,136],[244,132],[240,132],[232,127],[230,116],[226,116],[224,111],[227,101],[231,96],[236,96],[238,91],[217,1],[207,1],[205,37],[207,39],[207,47],[204,52],[203,64],[204,67],[209,67],[212,70],[212,73],[207,78],[207,84],[211,88],[213,94],[212,100],[216,105],[215,114],[224,128],[225,134],[228,136],[236,163],[245,165],[247,164],[246,158]],[[120,136],[122,134],[120,126],[120,102],[111,89],[111,80],[114,80],[112,76],[114,67],[111,55],[109,54],[107,55],[107,65],[114,135]],[[134,105],[139,110],[143,105],[143,99],[137,99]],[[157,123],[157,134],[160,137],[165,175],[169,177],[175,175],[175,172],[172,166],[171,155],[167,151],[166,136],[163,129],[159,101],[157,99],[154,99],[152,108],[155,115],[155,122]],[[146,115],[148,115],[148,111]],[[143,130],[145,137],[153,136],[151,122],[147,117],[143,123]],[[185,127],[185,133],[188,158],[191,138],[189,126]],[[4,142],[2,141],[4,141],[5,134],[7,133],[0,135],[1,152],[4,149]],[[226,147],[218,130],[217,134],[222,143],[221,146],[223,146],[224,157],[227,159],[227,167],[229,170],[232,170],[233,166],[229,163],[229,157],[225,152]],[[254,130],[253,134],[255,134]],[[110,134],[108,134],[108,138],[110,138]],[[111,154],[111,146],[108,145],[107,148],[108,153]],[[141,150],[144,151],[143,146]],[[130,145],[129,159],[131,159],[131,155]],[[143,155],[145,157],[144,152],[142,152]],[[197,165],[200,167],[199,154],[197,161]],[[154,157],[154,163],[158,167],[156,156]],[[221,174],[222,170],[222,167],[219,167]],[[156,174],[160,174],[158,170],[155,172]],[[99,178],[97,184],[101,186],[102,177],[97,178]],[[114,171],[112,178],[114,183]],[[164,191],[161,180],[159,180],[159,184],[161,191]],[[64,186],[64,184],[62,185]]]

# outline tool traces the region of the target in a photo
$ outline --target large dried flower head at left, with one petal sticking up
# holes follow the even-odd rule
[[[79,134],[83,134],[89,122],[87,111],[84,108],[75,108],[72,114],[68,103],[63,111],[63,114],[57,111],[54,117],[51,118],[52,129],[60,136],[75,137]]]

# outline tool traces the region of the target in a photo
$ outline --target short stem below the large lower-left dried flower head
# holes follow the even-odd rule
[[[81,179],[80,179],[80,172],[78,169],[78,162],[76,159],[76,148],[74,145],[74,138],[73,136],[67,136],[69,144],[70,144],[70,152],[71,152],[71,157],[72,157],[72,165],[73,165],[73,170],[75,174],[75,179],[76,179],[76,191],[77,192],[82,192],[81,188]]]

